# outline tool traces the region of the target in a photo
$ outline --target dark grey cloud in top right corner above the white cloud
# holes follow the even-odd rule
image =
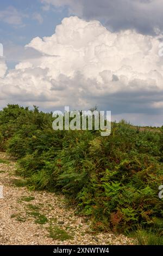
[[[163,30],[162,0],[41,0],[87,20],[101,20],[112,31],[136,29],[142,34]]]

